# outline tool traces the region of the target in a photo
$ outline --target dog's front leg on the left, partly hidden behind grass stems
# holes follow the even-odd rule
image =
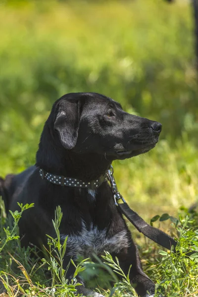
[[[69,266],[68,266],[68,264],[69,264]],[[68,256],[64,257],[63,268],[64,269],[68,268],[66,277],[71,282],[71,280],[74,278],[75,267],[74,267],[74,265],[72,265],[72,263],[70,263],[70,257],[68,257]],[[103,297],[103,295],[98,294],[93,290],[85,288],[83,279],[80,276],[77,275],[76,280],[78,283],[82,284],[82,285],[76,286],[76,290],[77,290],[76,295],[82,294],[83,296],[86,296],[86,297]]]

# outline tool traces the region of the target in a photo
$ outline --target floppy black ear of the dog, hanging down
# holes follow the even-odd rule
[[[54,129],[58,131],[60,142],[64,148],[71,149],[75,147],[78,138],[79,118],[77,100],[59,102]]]

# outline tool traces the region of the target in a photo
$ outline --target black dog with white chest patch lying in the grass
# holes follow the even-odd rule
[[[68,235],[64,267],[71,257],[106,250],[118,257],[125,273],[132,264],[130,279],[140,296],[154,294],[105,176],[113,160],[154,148],[160,132],[160,123],[131,115],[99,94],[74,93],[58,99],[41,135],[36,166],[1,181],[7,210],[17,209],[17,202],[35,203],[19,221],[21,244],[46,245],[46,234],[55,236],[52,219],[60,205],[61,239]],[[70,265],[67,277],[73,273]],[[85,296],[102,296],[84,285],[77,288]]]

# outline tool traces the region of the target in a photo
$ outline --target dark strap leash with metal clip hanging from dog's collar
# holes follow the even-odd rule
[[[111,185],[115,205],[120,209],[121,213],[123,213],[126,218],[136,227],[136,229],[158,245],[167,249],[171,249],[171,247],[174,246],[175,250],[177,242],[171,236],[160,229],[148,225],[148,223],[145,222],[145,220],[143,220],[143,218],[141,218],[137,212],[129,207],[125,199],[118,192],[117,185],[113,177],[112,166],[110,166],[110,169],[107,171],[107,178]],[[123,203],[118,203],[119,199],[122,199]]]

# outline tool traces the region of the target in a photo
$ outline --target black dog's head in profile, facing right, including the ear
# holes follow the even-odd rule
[[[116,101],[96,93],[73,93],[52,108],[50,128],[56,142],[76,153],[130,158],[154,148],[161,124],[125,112]]]

